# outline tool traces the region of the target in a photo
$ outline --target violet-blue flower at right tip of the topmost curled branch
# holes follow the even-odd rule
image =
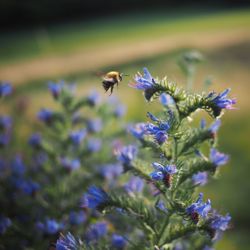
[[[236,103],[236,100],[227,98],[227,94],[230,91],[231,89],[226,89],[218,95],[212,92],[207,96],[207,98],[211,99],[213,104],[219,109],[233,109],[232,105]]]

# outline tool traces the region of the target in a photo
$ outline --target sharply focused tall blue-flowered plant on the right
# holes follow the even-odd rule
[[[220,109],[230,109],[235,101],[226,99],[228,91],[200,99],[196,94],[185,95],[167,81],[154,79],[147,69],[144,69],[144,75],[137,74],[135,83],[130,86],[143,90],[147,100],[159,96],[163,106],[163,112],[159,114],[161,118],[148,112],[152,122],[129,126],[128,131],[140,144],[116,148],[117,160],[124,171],[112,174],[110,179],[118,176],[122,179],[123,174],[132,176],[122,189],[115,187],[112,192],[90,187],[83,198],[84,207],[104,214],[115,208],[121,217],[126,218],[126,225],[133,224],[133,228],[122,230],[124,236],[112,236],[112,245],[117,249],[124,249],[125,243],[128,249],[130,246],[131,249],[151,246],[154,249],[178,249],[179,246],[192,249],[194,245],[199,249],[209,249],[218,240],[218,235],[229,228],[231,217],[229,214],[219,215],[212,208],[210,199],[203,201],[203,193],[195,200],[193,196],[199,186],[213,178],[219,166],[227,163],[229,157],[216,148],[221,125],[217,115],[208,127],[205,120],[199,128],[193,128],[193,124],[185,120],[188,120],[187,114],[198,108],[211,114],[215,105]],[[188,108],[183,108],[185,106]],[[208,157],[202,153],[204,145],[209,147]],[[111,213],[106,218],[115,224],[116,215]],[[122,223],[122,218],[119,218],[119,223]],[[143,245],[137,241],[135,227],[141,230],[140,242],[143,241]],[[95,240],[100,238],[98,235],[96,233]],[[105,236],[106,239],[109,237]]]

